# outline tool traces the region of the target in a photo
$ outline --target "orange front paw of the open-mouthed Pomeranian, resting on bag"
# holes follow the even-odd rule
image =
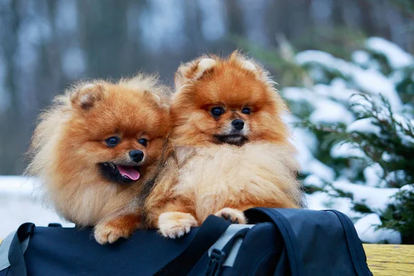
[[[128,238],[139,226],[139,219],[132,215],[112,219],[95,226],[94,236],[99,244],[113,244],[121,237]]]

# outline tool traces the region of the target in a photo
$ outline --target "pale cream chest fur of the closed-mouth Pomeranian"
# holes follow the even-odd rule
[[[280,189],[275,184],[281,176],[290,178],[296,166],[291,152],[268,143],[183,147],[176,154],[181,168],[175,192],[193,200],[200,220],[221,208],[246,204],[252,196],[276,196]]]

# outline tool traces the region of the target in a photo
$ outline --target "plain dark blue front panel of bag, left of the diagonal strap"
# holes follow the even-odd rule
[[[130,240],[102,246],[92,228],[36,227],[25,254],[28,275],[154,275],[184,251],[198,230],[180,239],[138,230]]]

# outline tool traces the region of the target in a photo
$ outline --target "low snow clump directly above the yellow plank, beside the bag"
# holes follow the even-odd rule
[[[359,239],[362,242],[380,243],[388,242],[389,244],[401,244],[401,235],[395,230],[380,228],[376,229],[381,224],[380,216],[372,213],[359,219],[355,223]]]

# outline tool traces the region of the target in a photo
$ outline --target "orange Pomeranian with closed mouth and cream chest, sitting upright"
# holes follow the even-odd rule
[[[146,200],[148,223],[180,237],[210,214],[244,224],[252,207],[299,208],[286,105],[268,72],[234,52],[182,65],[170,112],[174,153]]]

